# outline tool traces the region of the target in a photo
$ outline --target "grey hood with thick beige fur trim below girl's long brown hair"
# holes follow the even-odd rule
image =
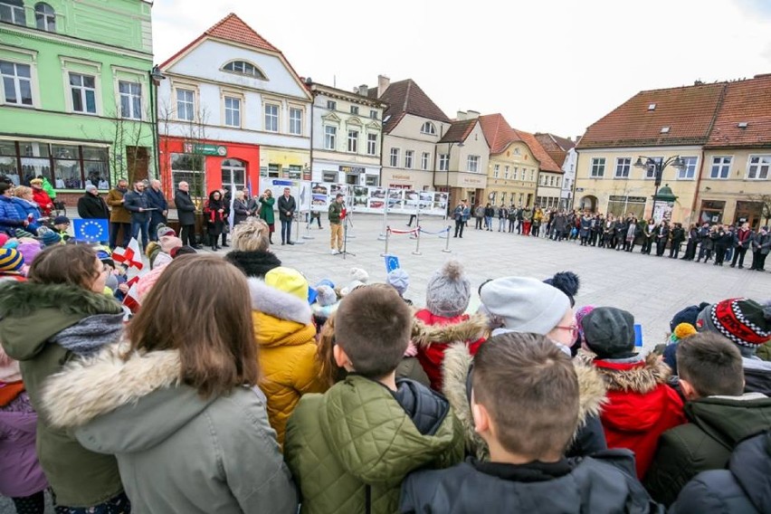
[[[43,387],[42,412],[52,426],[78,429],[78,440],[90,450],[148,450],[216,399],[181,385],[181,368],[176,350],[122,357],[113,345],[51,376]]]

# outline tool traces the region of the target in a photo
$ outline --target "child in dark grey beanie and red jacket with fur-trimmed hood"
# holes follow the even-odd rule
[[[634,353],[634,317],[613,307],[598,307],[583,320],[586,346],[607,386],[608,402],[600,414],[608,448],[634,452],[642,480],[651,465],[659,436],[685,423],[680,395],[667,385],[670,366],[659,356]]]

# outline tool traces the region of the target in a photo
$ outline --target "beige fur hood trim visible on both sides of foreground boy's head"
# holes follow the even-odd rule
[[[471,404],[469,401],[469,368],[473,358],[465,345],[454,344],[444,352],[443,362],[443,394],[452,405],[452,410],[463,426],[466,441],[466,451],[479,460],[486,460],[489,456],[487,444],[474,430],[474,421],[471,416]],[[578,376],[578,390],[580,398],[578,402],[578,420],[576,437],[590,416],[600,414],[605,398],[605,386],[600,375],[590,366],[573,361]]]

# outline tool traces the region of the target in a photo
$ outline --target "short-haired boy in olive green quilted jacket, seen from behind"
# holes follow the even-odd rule
[[[410,308],[390,286],[357,288],[340,303],[334,361],[349,375],[304,395],[287,425],[301,512],[391,514],[408,472],[462,460],[462,427],[447,400],[395,378],[411,328]]]

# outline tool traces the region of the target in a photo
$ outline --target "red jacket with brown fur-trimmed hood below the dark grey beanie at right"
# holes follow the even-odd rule
[[[608,448],[634,452],[637,477],[643,480],[653,460],[659,436],[685,423],[680,395],[666,385],[670,367],[656,356],[633,364],[595,359],[608,386],[600,421]]]

